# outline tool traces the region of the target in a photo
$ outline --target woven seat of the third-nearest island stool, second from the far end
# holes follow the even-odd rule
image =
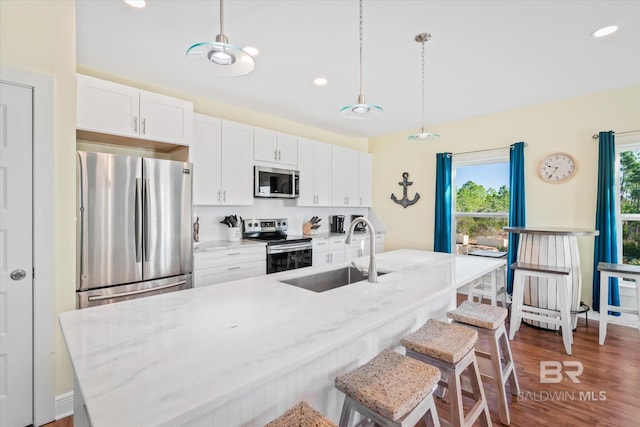
[[[402,345],[435,359],[456,363],[473,348],[478,332],[464,326],[429,319],[402,339]]]

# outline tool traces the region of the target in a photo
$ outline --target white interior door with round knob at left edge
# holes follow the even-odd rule
[[[33,422],[32,88],[0,83],[0,425]]]

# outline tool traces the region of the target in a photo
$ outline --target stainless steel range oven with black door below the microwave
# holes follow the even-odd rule
[[[288,235],[288,222],[286,218],[243,221],[245,239],[267,242],[267,274],[311,266],[311,238]]]

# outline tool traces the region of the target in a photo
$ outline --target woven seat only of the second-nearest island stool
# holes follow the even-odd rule
[[[428,396],[440,370],[392,350],[336,378],[336,388],[363,406],[395,421]]]

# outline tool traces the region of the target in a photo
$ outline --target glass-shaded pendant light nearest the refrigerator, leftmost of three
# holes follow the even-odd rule
[[[224,35],[224,1],[220,0],[220,34],[216,41],[196,43],[187,49],[187,58],[195,64],[204,64],[218,76],[241,76],[253,71],[253,56],[238,46],[229,44]]]

